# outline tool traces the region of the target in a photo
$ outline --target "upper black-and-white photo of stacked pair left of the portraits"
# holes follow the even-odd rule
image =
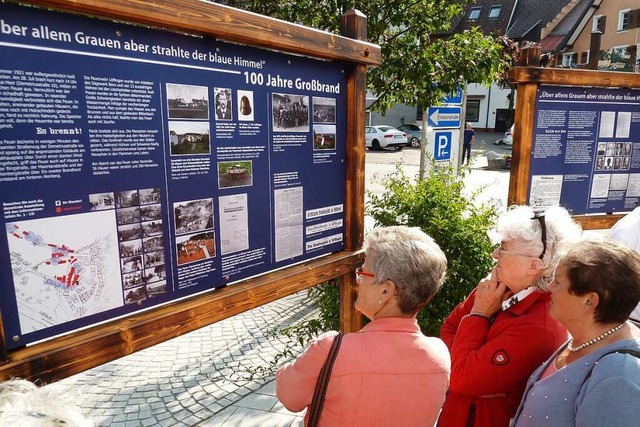
[[[209,119],[209,88],[167,83],[170,119]]]

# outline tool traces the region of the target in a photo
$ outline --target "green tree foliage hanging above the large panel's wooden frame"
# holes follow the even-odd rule
[[[368,39],[381,46],[382,64],[370,69],[378,111],[394,103],[436,105],[465,81],[499,80],[510,64],[504,39],[478,29],[446,35],[473,0],[229,0],[241,9],[340,33],[344,12],[367,16]]]

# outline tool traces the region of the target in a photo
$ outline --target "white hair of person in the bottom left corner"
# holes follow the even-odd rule
[[[93,427],[61,387],[0,382],[0,427]]]

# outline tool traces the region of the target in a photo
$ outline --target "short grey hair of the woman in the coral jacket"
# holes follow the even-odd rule
[[[375,228],[365,238],[364,251],[376,282],[396,284],[403,313],[418,312],[444,283],[447,257],[418,227]]]

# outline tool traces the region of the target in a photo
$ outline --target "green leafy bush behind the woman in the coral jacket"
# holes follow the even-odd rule
[[[447,278],[433,300],[418,315],[427,335],[438,335],[451,312],[493,266],[488,231],[495,225],[496,207],[475,203],[478,192],[463,193],[465,172],[436,169],[422,181],[407,177],[400,167],[382,180],[386,192],[369,194],[367,212],[376,226],[420,227],[447,256]]]

